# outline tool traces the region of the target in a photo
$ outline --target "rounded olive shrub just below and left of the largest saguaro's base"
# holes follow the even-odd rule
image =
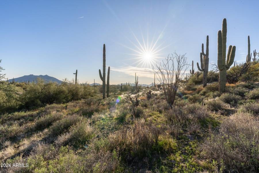
[[[205,100],[204,103],[205,106],[211,111],[219,111],[229,108],[226,103],[219,100],[218,98]]]

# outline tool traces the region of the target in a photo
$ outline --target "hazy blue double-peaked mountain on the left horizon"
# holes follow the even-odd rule
[[[37,78],[41,78],[43,79],[46,83],[48,82],[57,82],[57,83],[62,83],[61,80],[58,80],[57,78],[54,78],[54,77],[51,77],[51,76],[48,76],[48,75],[33,75],[33,74],[30,74],[30,75],[25,75],[25,76],[22,76],[22,77],[19,77],[19,78],[14,78],[14,81],[15,82],[25,82],[25,81],[30,81],[30,82],[33,82],[33,81],[37,81]],[[9,82],[12,82],[13,79],[9,79],[8,80]]]

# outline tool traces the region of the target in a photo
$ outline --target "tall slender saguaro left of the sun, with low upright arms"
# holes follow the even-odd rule
[[[102,98],[105,98],[105,70],[106,70],[106,54],[105,54],[105,44],[103,44],[103,56],[102,56],[102,72],[99,69],[99,76],[102,80]],[[107,74],[107,97],[109,97],[109,87],[110,86],[110,67],[108,67]]]

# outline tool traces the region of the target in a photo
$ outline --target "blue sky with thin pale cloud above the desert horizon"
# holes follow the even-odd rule
[[[209,35],[210,62],[217,61],[217,31],[227,19],[227,47],[245,61],[247,35],[259,52],[259,1],[0,1],[0,59],[6,77],[49,75],[101,83],[102,46],[110,83],[150,84],[150,65],[136,63],[134,50],[152,39],[159,57],[176,51],[199,62]],[[135,35],[135,36],[134,36]],[[143,36],[143,39],[142,39]],[[139,40],[138,44],[136,38]],[[134,46],[136,45],[136,46]],[[134,50],[133,50],[134,49]],[[154,59],[159,62],[162,59]],[[195,70],[197,67],[195,65]]]

